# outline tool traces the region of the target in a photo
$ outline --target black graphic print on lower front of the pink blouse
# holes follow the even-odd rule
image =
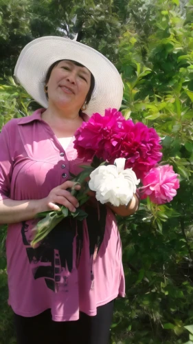
[[[89,235],[89,254],[91,257],[91,282],[93,281],[93,255],[97,253],[104,238],[106,224],[106,207],[100,205],[100,217],[98,211],[87,206],[85,211],[87,217],[87,230]],[[99,217],[99,218],[98,218]],[[27,222],[23,222],[21,235],[25,245],[27,257],[32,267],[34,279],[43,277],[47,288],[58,292],[63,289],[68,291],[68,276],[71,272],[73,262],[76,267],[80,262],[80,255],[84,244],[83,222],[73,218],[63,219],[42,241],[40,246],[32,248],[32,228]],[[76,237],[76,252],[73,250],[73,242]],[[74,253],[73,253],[74,252]],[[73,255],[76,257],[73,257]]]

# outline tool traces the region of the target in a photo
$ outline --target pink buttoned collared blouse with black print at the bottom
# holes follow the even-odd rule
[[[12,119],[1,131],[0,200],[47,197],[81,171],[73,140],[64,150],[41,119],[43,111]],[[30,240],[36,220],[8,226],[9,304],[16,314],[35,316],[51,308],[54,321],[71,321],[79,311],[93,316],[98,306],[124,297],[120,234],[111,210],[100,208],[100,217],[88,208],[83,222],[63,220],[35,249]]]

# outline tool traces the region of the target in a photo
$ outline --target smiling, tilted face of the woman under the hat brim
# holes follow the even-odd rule
[[[85,102],[90,85],[89,69],[75,65],[71,61],[60,61],[52,69],[47,83],[49,104],[54,103],[60,109],[70,107],[72,111],[79,111]]]

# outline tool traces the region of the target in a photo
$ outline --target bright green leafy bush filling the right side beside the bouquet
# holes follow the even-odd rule
[[[117,303],[115,343],[120,334],[120,343],[184,343],[193,321],[192,3],[186,12],[177,4],[135,1],[139,8],[120,43],[122,111],[155,127],[181,189],[170,204],[147,200],[120,219],[127,297]]]

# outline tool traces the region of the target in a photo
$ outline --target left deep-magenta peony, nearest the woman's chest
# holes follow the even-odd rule
[[[106,109],[104,116],[93,114],[75,133],[74,148],[78,151],[78,157],[87,161],[96,155],[99,159],[110,161],[114,150],[111,141],[122,128],[123,121],[124,116],[116,109]]]

